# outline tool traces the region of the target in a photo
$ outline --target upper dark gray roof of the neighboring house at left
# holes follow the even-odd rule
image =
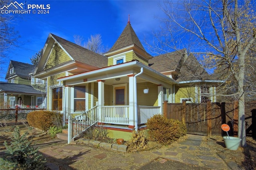
[[[33,64],[23,63],[11,60],[10,68],[14,67],[14,73],[17,76],[28,77],[30,73],[34,71],[35,66]],[[8,70],[9,71],[9,70]],[[10,77],[9,72],[6,74],[6,79]]]

